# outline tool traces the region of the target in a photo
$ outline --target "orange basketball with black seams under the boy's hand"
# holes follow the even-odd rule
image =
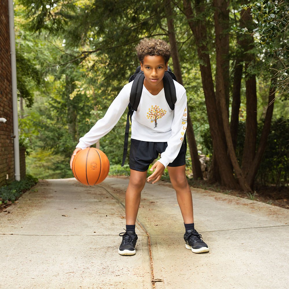
[[[108,157],[103,151],[94,147],[78,151],[72,162],[75,179],[87,186],[101,183],[107,177],[108,171]]]

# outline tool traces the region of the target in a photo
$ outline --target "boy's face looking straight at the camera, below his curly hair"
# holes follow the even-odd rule
[[[140,69],[144,72],[144,84],[156,88],[163,86],[162,79],[168,70],[168,63],[160,55],[147,55],[143,63],[140,63]]]

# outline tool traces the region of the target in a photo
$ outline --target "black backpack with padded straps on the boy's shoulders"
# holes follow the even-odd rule
[[[168,70],[164,74],[164,93],[166,97],[166,101],[171,108],[171,110],[175,109],[175,103],[177,101],[177,95],[176,95],[176,88],[174,81],[177,81],[176,76],[171,71],[171,68],[168,67]],[[127,155],[127,146],[128,146],[128,135],[129,135],[129,119],[131,121],[131,116],[134,113],[134,111],[138,110],[138,105],[140,103],[140,97],[142,95],[142,88],[144,83],[144,73],[140,70],[140,66],[136,68],[136,71],[131,77],[129,77],[129,81],[131,82],[134,80],[134,83],[131,87],[130,97],[129,97],[129,105],[128,105],[128,113],[127,113],[127,123],[125,127],[125,141],[123,146],[123,162],[121,166],[125,164],[125,159]],[[185,141],[186,144],[186,141]]]

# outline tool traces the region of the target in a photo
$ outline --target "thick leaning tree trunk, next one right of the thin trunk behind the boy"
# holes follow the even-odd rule
[[[203,1],[201,3],[200,2],[201,1],[199,0],[195,1],[195,9],[198,16],[204,12],[204,3]],[[212,79],[211,63],[208,54],[209,48],[206,44],[208,40],[206,22],[204,20],[199,20],[200,17],[197,19],[194,18],[191,2],[189,0],[184,0],[184,12],[197,43],[197,52],[200,61],[200,71],[208,113],[208,121],[210,125],[214,152],[218,152],[216,153],[216,159],[219,166],[221,180],[227,187],[236,188],[236,179],[234,178],[230,160],[227,155],[225,140],[222,137],[223,134],[221,133],[223,124],[220,122],[217,113],[218,110]]]

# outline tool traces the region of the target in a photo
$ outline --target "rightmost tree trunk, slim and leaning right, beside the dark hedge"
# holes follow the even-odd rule
[[[268,97],[268,107],[266,111],[266,116],[264,120],[264,126],[262,130],[262,135],[260,138],[259,146],[255,155],[255,158],[250,166],[249,172],[247,174],[247,182],[253,188],[254,184],[254,179],[257,173],[257,170],[260,166],[262,157],[264,155],[265,149],[266,149],[266,143],[268,139],[268,135],[270,132],[270,127],[271,127],[271,120],[272,120],[272,115],[273,115],[273,108],[274,108],[274,100],[275,100],[275,87],[273,86],[273,80],[271,79],[271,89],[269,92],[269,97]]]

